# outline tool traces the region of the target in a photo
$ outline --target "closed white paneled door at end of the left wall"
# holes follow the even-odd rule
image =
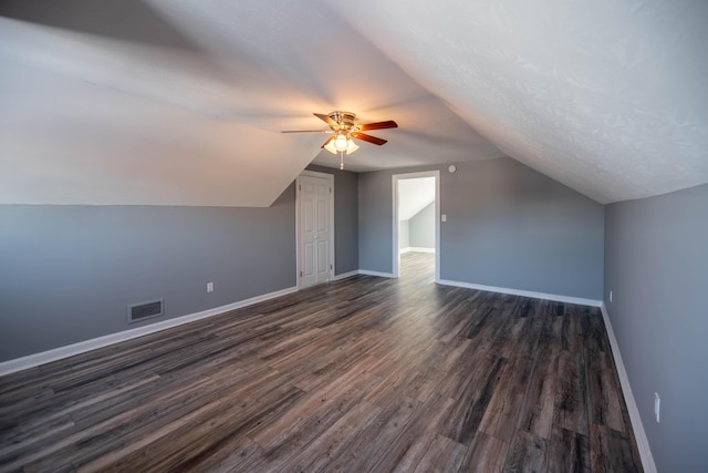
[[[304,171],[298,177],[298,288],[334,277],[334,176]]]

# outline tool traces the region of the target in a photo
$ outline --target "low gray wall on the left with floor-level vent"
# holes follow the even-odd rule
[[[294,202],[0,206],[0,361],[295,286]],[[128,326],[155,298],[166,315]]]

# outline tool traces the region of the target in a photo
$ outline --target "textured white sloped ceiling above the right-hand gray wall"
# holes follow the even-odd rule
[[[708,182],[708,2],[336,8],[509,156],[601,202]]]

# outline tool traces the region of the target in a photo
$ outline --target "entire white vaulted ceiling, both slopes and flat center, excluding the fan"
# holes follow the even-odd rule
[[[350,171],[511,156],[608,203],[708,183],[704,0],[6,0],[0,203],[268,206],[312,112]]]

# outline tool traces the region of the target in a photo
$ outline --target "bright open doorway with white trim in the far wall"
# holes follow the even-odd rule
[[[438,171],[393,176],[394,277],[430,270],[440,280],[439,181]]]

